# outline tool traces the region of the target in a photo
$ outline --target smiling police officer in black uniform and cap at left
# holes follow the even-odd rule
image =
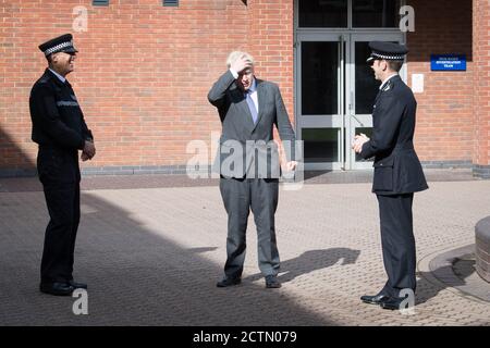
[[[65,76],[74,69],[77,50],[65,34],[39,46],[48,60],[30,91],[33,141],[38,144],[37,171],[50,221],[46,228],[40,290],[66,296],[86,284],[73,279],[73,254],[79,222],[79,166],[91,159],[94,137]]]

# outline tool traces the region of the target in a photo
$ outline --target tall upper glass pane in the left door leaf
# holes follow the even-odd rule
[[[302,42],[302,114],[339,113],[339,44]]]

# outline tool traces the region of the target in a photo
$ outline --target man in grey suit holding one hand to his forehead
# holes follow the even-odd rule
[[[257,226],[258,263],[267,288],[278,281],[279,251],[274,213],[279,194],[279,152],[273,125],[285,144],[285,170],[296,166],[295,136],[279,87],[254,75],[254,59],[246,52],[229,55],[229,70],[208,94],[222,124],[219,164],[220,191],[228,213],[226,263],[218,287],[241,283],[246,249],[246,228],[252,209]],[[289,140],[289,141],[284,141]]]

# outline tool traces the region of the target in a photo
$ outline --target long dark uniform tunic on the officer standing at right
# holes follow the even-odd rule
[[[399,75],[378,92],[372,136],[360,152],[364,159],[375,157],[375,194],[401,195],[428,188],[413,142],[416,108],[412,89]]]

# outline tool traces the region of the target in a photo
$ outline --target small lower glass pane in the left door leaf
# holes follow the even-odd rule
[[[339,162],[339,128],[303,128],[306,163]]]

